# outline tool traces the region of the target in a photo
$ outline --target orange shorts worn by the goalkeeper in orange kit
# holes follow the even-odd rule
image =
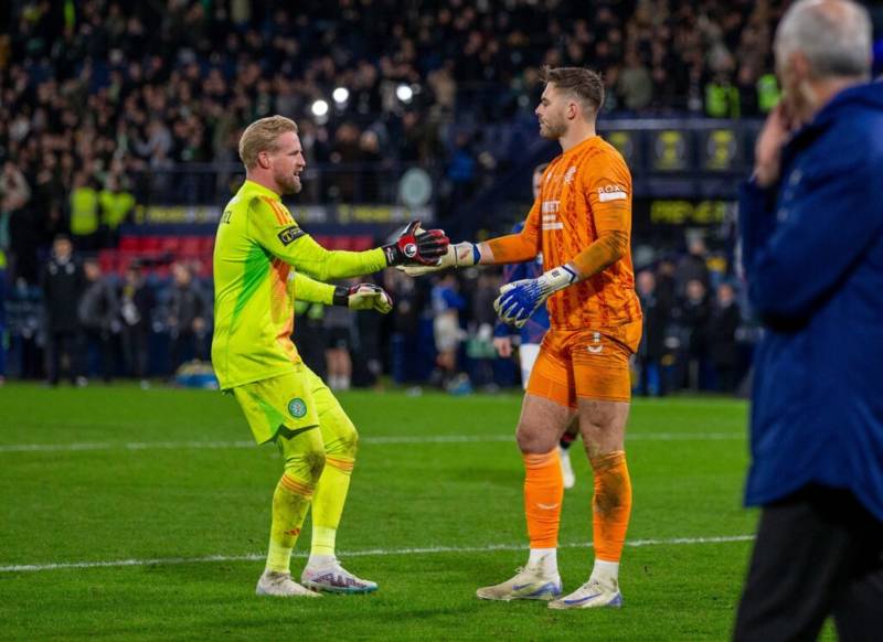
[[[552,329],[543,338],[528,392],[571,408],[577,397],[628,402],[629,357],[640,338],[640,321],[611,331]]]

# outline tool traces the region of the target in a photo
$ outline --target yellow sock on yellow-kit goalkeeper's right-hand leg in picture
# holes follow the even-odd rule
[[[326,456],[325,470],[312,500],[312,545],[310,557],[334,555],[334,539],[350,490],[354,460],[340,454]]]

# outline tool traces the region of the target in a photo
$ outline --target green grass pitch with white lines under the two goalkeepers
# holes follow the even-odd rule
[[[380,590],[299,601],[254,596],[280,461],[273,447],[248,443],[231,397],[0,388],[0,639],[728,636],[756,521],[741,506],[744,403],[636,400],[625,608],[554,612],[475,598],[526,558],[512,439],[520,396],[340,399],[361,447],[339,557]],[[565,590],[587,578],[593,558],[591,477],[579,445],[573,453]]]

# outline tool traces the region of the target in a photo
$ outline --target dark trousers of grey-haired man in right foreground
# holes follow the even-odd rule
[[[806,486],[764,506],[733,639],[883,639],[883,522],[852,493]]]

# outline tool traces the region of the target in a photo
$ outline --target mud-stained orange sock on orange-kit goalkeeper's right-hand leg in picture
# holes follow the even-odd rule
[[[592,460],[595,473],[593,535],[595,558],[619,561],[631,514],[631,479],[621,450]]]

